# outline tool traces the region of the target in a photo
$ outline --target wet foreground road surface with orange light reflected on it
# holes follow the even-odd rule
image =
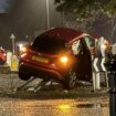
[[[109,116],[107,98],[0,98],[0,116]]]

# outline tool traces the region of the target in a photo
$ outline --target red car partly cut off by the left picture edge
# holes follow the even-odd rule
[[[0,48],[0,65],[7,62],[7,52],[4,49]]]

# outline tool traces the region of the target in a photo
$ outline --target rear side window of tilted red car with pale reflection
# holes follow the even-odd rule
[[[81,44],[81,40],[77,40],[75,41],[73,44],[72,44],[72,50],[73,50],[73,53],[75,55],[80,54],[81,50],[82,50],[82,44]]]

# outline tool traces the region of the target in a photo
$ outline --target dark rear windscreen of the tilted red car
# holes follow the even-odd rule
[[[65,42],[49,35],[40,35],[34,40],[32,49],[44,53],[57,54],[65,50]]]

